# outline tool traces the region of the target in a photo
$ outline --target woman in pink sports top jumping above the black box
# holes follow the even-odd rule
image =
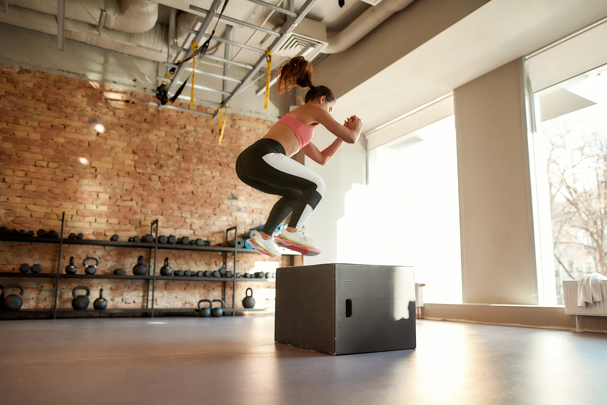
[[[335,97],[325,86],[312,84],[312,64],[302,56],[283,62],[277,71],[277,94],[291,93],[296,85],[310,89],[305,104],[286,114],[262,139],[245,149],[236,160],[236,174],[248,186],[261,192],[282,196],[270,212],[262,232],[249,244],[273,258],[280,256],[277,245],[302,253],[320,253],[304,235],[304,223],[325,192],[325,183],[312,170],[291,159],[300,150],[319,164],[326,164],[342,142],[353,144],[361,135],[361,120],[356,116],[339,124],[331,117]],[[322,150],[310,141],[314,128],[324,126],[337,137]],[[274,230],[291,214],[286,228],[274,236]]]

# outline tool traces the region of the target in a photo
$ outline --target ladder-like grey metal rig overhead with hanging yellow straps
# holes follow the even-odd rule
[[[279,7],[277,5],[273,5],[273,4],[270,4],[270,3],[262,1],[262,0],[248,0],[254,4],[262,5],[263,7],[268,7],[271,10],[274,10],[274,12],[279,12],[279,13],[282,13],[285,16],[287,16],[287,22],[285,22],[285,24],[283,25],[282,29],[279,32],[276,32],[276,31],[270,30],[268,28],[263,28],[258,25],[251,24],[246,21],[240,21],[239,19],[236,19],[236,18],[231,18],[226,15],[220,15],[218,10],[220,10],[223,2],[225,2],[225,1],[226,0],[214,0],[211,4],[211,7],[209,7],[209,10],[205,10],[205,8],[200,8],[195,5],[189,6],[190,10],[192,10],[193,12],[196,12],[196,13],[203,14],[204,17],[203,16],[198,17],[196,19],[196,21],[194,22],[194,26],[192,28],[185,28],[185,27],[181,28],[181,30],[188,33],[188,35],[186,35],[185,40],[181,44],[181,47],[178,47],[178,46],[175,46],[174,44],[172,44],[172,41],[173,41],[172,29],[174,29],[174,10],[172,10],[172,14],[171,14],[172,27],[169,27],[169,32],[171,33],[171,35],[169,36],[169,41],[171,42],[170,43],[171,49],[177,50],[177,55],[174,56],[174,58],[172,59],[172,62],[165,62],[164,64],[166,66],[168,66],[169,69],[174,67],[175,72],[169,79],[158,77],[159,81],[167,82],[166,89],[168,90],[169,94],[175,93],[175,91],[178,89],[178,87],[182,83],[182,82],[180,82],[180,78],[184,72],[192,72],[192,67],[189,67],[189,64],[177,64],[177,62],[180,60],[187,59],[189,56],[192,55],[192,53],[194,53],[192,48],[190,47],[190,44],[192,43],[192,41],[194,44],[200,44],[201,41],[205,41],[206,39],[209,38],[210,34],[206,33],[206,31],[208,30],[209,27],[211,27],[211,22],[213,19],[220,18],[221,20],[223,20],[225,22],[229,22],[234,25],[242,25],[243,27],[253,28],[254,30],[257,30],[259,32],[263,32],[267,35],[274,36],[275,37],[274,41],[271,43],[270,47],[268,48],[268,52],[273,53],[273,52],[276,52],[277,50],[279,50],[280,47],[283,44],[285,44],[285,42],[288,40],[288,38],[291,35],[291,33],[293,32],[293,30],[297,27],[297,24],[299,24],[304,19],[304,17],[308,14],[308,12],[310,12],[312,7],[314,7],[314,4],[316,4],[316,2],[317,2],[317,0],[307,0],[304,3],[304,5],[302,5],[302,7],[300,7],[299,10],[297,10],[297,12],[296,12],[294,0],[287,0],[287,8]],[[215,112],[214,113],[200,112],[198,110],[184,109],[184,108],[177,107],[175,105],[170,105],[170,104],[166,104],[166,105],[158,104],[158,110],[161,110],[163,108],[172,109],[172,110],[181,110],[184,112],[197,113],[200,115],[212,116],[212,118],[215,118],[219,114],[219,109],[226,107],[229,104],[229,102],[231,101],[231,99],[234,98],[234,96],[236,96],[238,93],[245,90],[251,84],[251,80],[253,79],[253,76],[256,75],[256,73],[259,72],[259,70],[262,69],[262,67],[266,65],[266,50],[265,49],[259,49],[256,47],[252,47],[250,45],[240,44],[239,42],[234,42],[234,41],[229,40],[228,38],[221,38],[219,36],[213,36],[212,41],[222,42],[225,45],[225,53],[224,53],[225,57],[220,58],[219,56],[205,55],[204,58],[215,61],[215,62],[222,63],[223,72],[224,72],[223,75],[218,75],[217,73],[212,73],[212,72],[205,72],[205,70],[202,70],[198,66],[194,69],[194,72],[199,73],[201,75],[211,76],[211,77],[217,78],[217,79],[222,79],[223,80],[222,89],[213,89],[211,87],[205,87],[205,86],[198,85],[198,84],[194,84],[194,88],[200,89],[200,90],[205,90],[207,92],[220,93],[223,96],[223,100],[222,100],[222,102],[214,102],[214,101],[209,101],[209,100],[204,100],[204,99],[194,99],[194,101],[199,102],[201,104],[212,105],[212,106],[216,107]],[[249,65],[249,64],[242,63],[242,62],[232,61],[232,60],[228,59],[229,58],[229,47],[232,47],[232,46],[240,47],[242,49],[260,53],[261,54],[260,58],[257,60],[257,62],[254,65]],[[170,58],[170,54],[171,54],[171,50],[169,49],[169,58]],[[243,69],[248,70],[248,72],[245,74],[245,76],[242,79],[236,79],[236,78],[229,77],[227,75],[229,65],[241,67]],[[228,82],[237,83],[236,87],[234,87],[234,89],[231,92],[229,92],[227,90]],[[273,79],[271,84],[273,84],[274,82],[276,82],[276,78]],[[261,91],[257,92],[257,94],[260,94],[260,93],[261,93]],[[180,99],[190,99],[188,96],[179,96],[179,98]]]

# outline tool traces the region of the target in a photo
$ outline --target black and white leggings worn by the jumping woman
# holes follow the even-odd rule
[[[259,139],[236,159],[236,174],[248,186],[282,196],[270,212],[263,232],[272,235],[289,216],[290,227],[299,229],[316,208],[325,192],[319,175],[285,155],[274,139]]]

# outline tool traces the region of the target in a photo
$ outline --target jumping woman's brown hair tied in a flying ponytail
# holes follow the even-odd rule
[[[329,102],[335,101],[333,92],[327,87],[312,84],[312,64],[304,56],[297,56],[282,62],[276,76],[278,76],[276,94],[291,94],[291,90],[297,85],[302,89],[310,88],[305,95],[305,102],[322,96],[325,96]]]

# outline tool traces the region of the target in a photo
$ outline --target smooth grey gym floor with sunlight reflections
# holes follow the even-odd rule
[[[607,335],[420,321],[418,349],[330,356],[274,318],[0,322],[0,404],[606,404]]]

